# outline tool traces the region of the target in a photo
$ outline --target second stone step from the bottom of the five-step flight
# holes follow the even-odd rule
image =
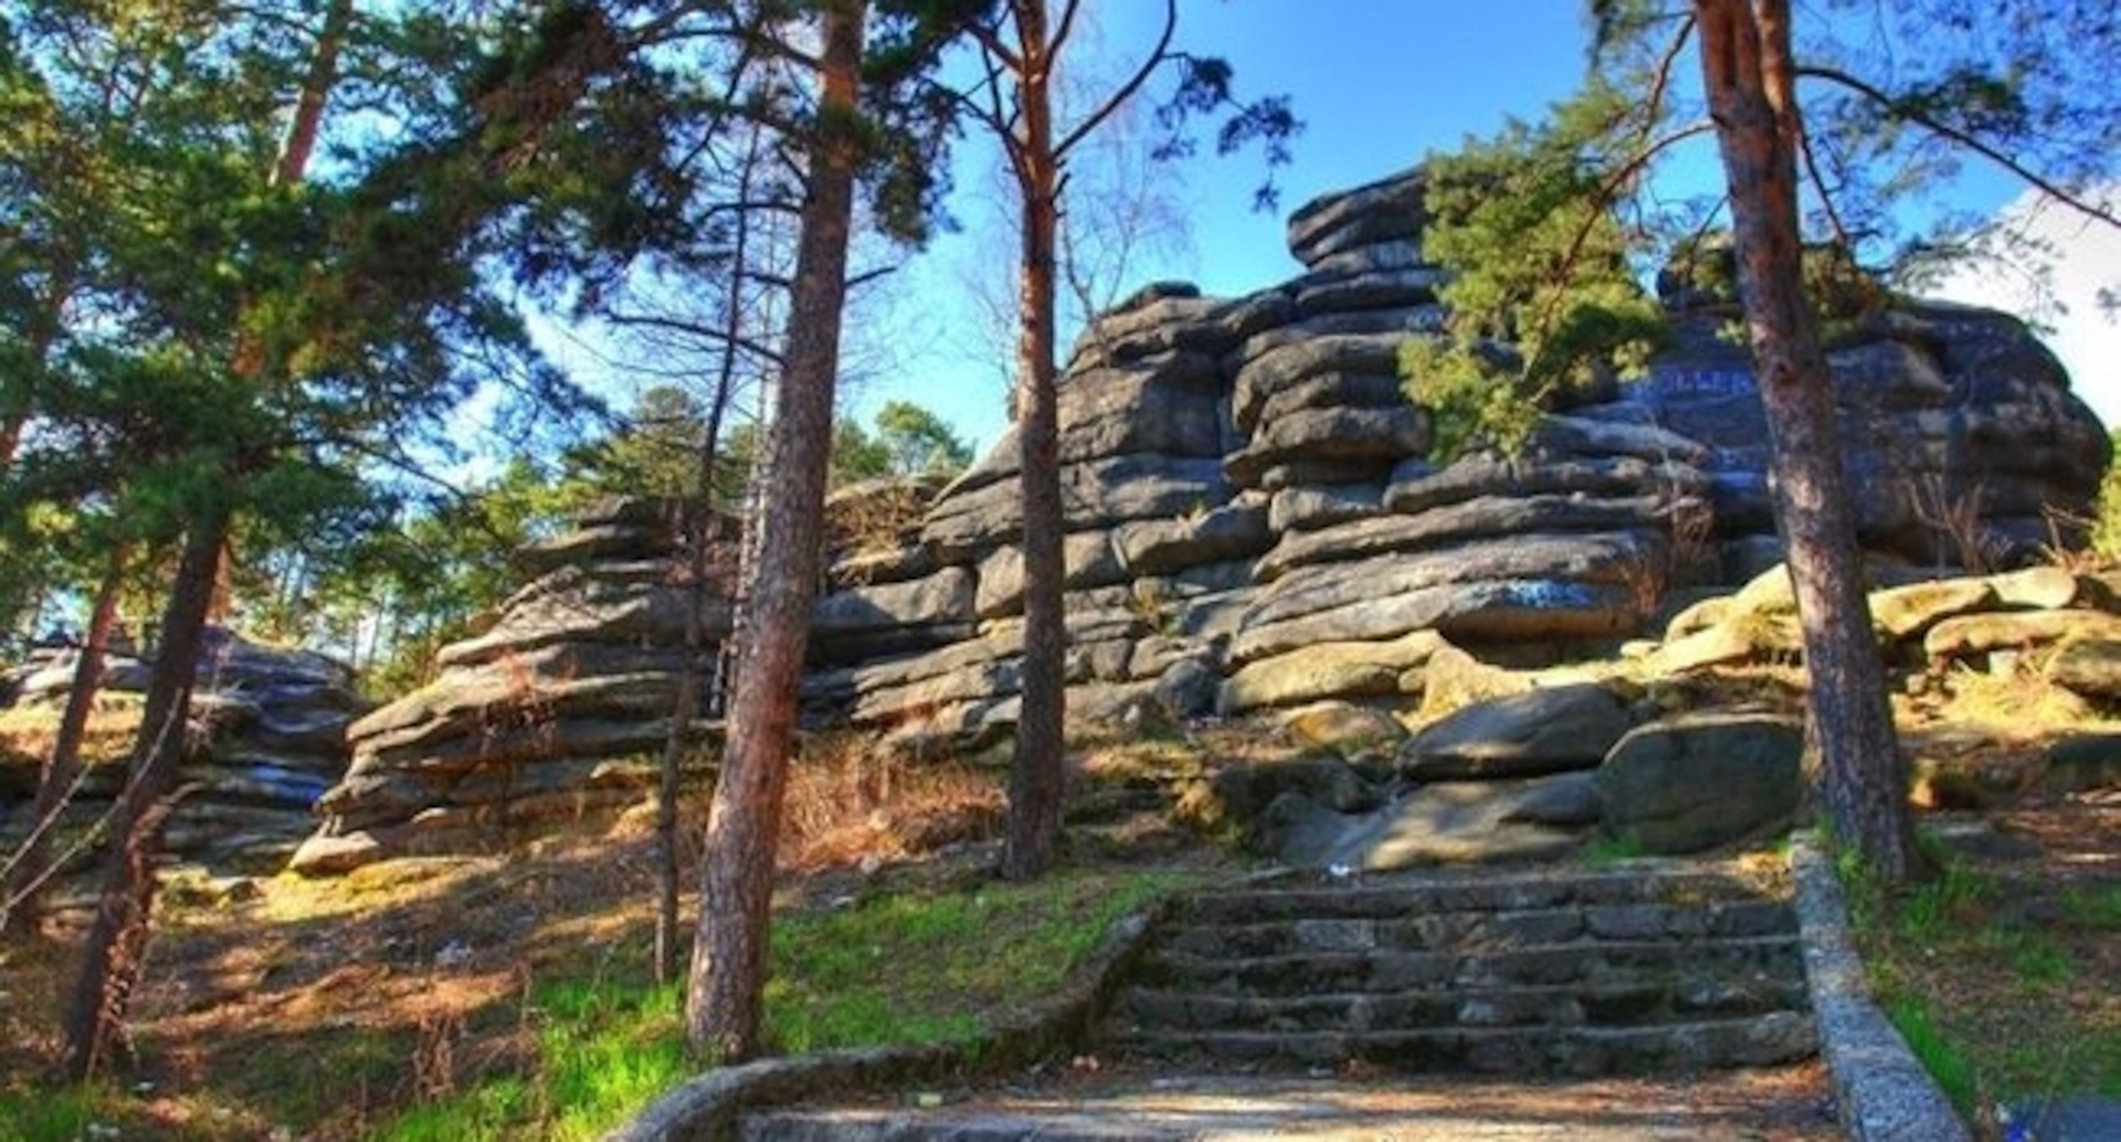
[[[1803,979],[1707,979],[1589,983],[1563,987],[1463,987],[1400,994],[1309,994],[1290,998],[1126,989],[1114,1023],[1158,1032],[1381,1032],[1546,1023],[1650,1025],[1803,1011]]]

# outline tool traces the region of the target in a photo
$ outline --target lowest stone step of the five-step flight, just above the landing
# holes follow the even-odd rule
[[[1811,1057],[1809,1015],[1773,1011],[1652,1025],[1504,1025],[1430,1030],[1128,1030],[1105,1051],[1160,1066],[1319,1070],[1351,1064],[1406,1072],[1650,1074],[1780,1066]]]

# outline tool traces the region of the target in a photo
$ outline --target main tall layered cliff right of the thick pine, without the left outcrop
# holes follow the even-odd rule
[[[1712,297],[1673,295],[1678,345],[1646,381],[1555,411],[1517,456],[1436,462],[1398,362],[1442,324],[1419,231],[1421,178],[1400,174],[1296,212],[1302,275],[1241,299],[1152,286],[1084,335],[1060,381],[1075,712],[1415,697],[1410,663],[1302,676],[1321,646],[1391,659],[1419,631],[1553,655],[1635,631],[1676,578],[1739,583],[1780,557],[1767,424]],[[2043,513],[2093,496],[2104,432],[2017,320],[1903,305],[1841,337],[1837,403],[1875,557],[2011,561],[2053,538]],[[812,697],[908,742],[1003,733],[1018,530],[1005,436],[944,489],[906,576],[825,604],[904,614],[927,638],[889,657],[821,650]],[[908,612],[914,597],[935,606]]]

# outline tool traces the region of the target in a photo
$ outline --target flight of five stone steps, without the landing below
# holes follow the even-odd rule
[[[1597,1076],[1786,1064],[1816,1032],[1786,884],[1642,862],[1194,894],[1097,1049],[1186,1070]]]

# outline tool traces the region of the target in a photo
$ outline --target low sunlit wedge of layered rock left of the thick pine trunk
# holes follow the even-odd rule
[[[689,572],[670,511],[609,500],[526,551],[537,578],[492,627],[443,646],[433,682],[348,727],[352,765],[318,801],[295,871],[596,828],[641,801],[685,657]],[[702,684],[730,631],[728,585],[708,591]]]

